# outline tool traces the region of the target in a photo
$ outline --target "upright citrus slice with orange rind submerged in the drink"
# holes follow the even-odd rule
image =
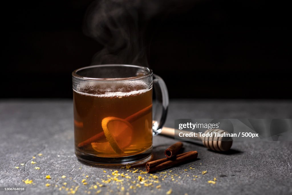
[[[133,126],[128,121],[117,117],[107,117],[102,119],[101,126],[115,153],[122,154],[124,149],[131,145]]]

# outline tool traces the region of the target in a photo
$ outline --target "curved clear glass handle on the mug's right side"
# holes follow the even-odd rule
[[[155,74],[153,74],[153,87],[156,94],[156,106],[153,112],[152,131],[153,136],[155,136],[161,133],[161,129],[166,121],[169,99],[165,82]]]

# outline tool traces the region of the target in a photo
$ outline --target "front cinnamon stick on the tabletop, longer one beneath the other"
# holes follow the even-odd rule
[[[190,151],[190,152],[186,153],[185,155],[176,157],[173,160],[165,161],[164,163],[160,163],[160,164],[158,164],[156,166],[147,167],[147,164],[146,164],[146,170],[147,170],[148,173],[156,172],[156,171],[159,171],[159,170],[162,170],[162,169],[174,166],[174,165],[179,165],[179,164],[186,163],[188,161],[196,159],[197,157],[198,157],[198,152],[197,151]],[[167,159],[170,159],[170,158],[167,158]]]

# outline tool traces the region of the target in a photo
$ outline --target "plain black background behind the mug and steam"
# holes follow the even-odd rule
[[[72,71],[102,49],[82,32],[91,2],[3,6],[1,98],[72,97]],[[222,0],[157,15],[147,26],[149,67],[170,98],[291,99],[289,16],[279,1]]]

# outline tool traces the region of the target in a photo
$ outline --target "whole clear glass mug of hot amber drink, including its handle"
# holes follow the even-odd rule
[[[136,65],[93,65],[74,70],[74,142],[77,158],[95,165],[150,158],[152,136],[166,120],[168,92],[161,77]],[[157,107],[152,122],[152,84]]]

